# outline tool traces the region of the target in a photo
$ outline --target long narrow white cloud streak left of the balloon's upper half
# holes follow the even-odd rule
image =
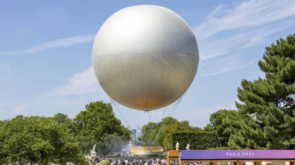
[[[62,38],[58,40],[53,40],[49,42],[44,42],[38,46],[33,46],[29,49],[26,50],[21,50],[21,51],[12,51],[8,52],[6,54],[29,54],[29,53],[34,53],[38,52],[41,50],[45,49],[52,49],[52,48],[58,48],[58,47],[66,47],[66,46],[72,46],[76,44],[83,44],[85,42],[93,41],[95,38],[94,34],[91,35],[79,35],[75,37],[67,37],[67,38]]]

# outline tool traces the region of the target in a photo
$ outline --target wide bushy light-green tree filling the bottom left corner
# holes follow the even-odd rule
[[[70,129],[52,118],[16,116],[0,124],[0,164],[87,164]]]

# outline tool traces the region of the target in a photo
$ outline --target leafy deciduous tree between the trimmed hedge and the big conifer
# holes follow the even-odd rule
[[[210,123],[216,136],[218,137],[218,141],[220,142],[220,146],[227,147],[227,143],[229,141],[229,131],[226,129],[225,120],[232,119],[237,117],[240,120],[251,119],[250,115],[241,114],[239,111],[235,110],[218,110],[215,113],[210,115]],[[208,124],[207,124],[208,125]],[[207,129],[207,128],[206,128]]]

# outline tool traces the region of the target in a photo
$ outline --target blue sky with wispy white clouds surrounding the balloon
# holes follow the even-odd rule
[[[206,63],[172,116],[197,127],[218,108],[236,109],[241,80],[264,77],[257,63],[265,46],[295,33],[293,0],[1,1],[0,120],[73,118],[90,101],[110,102],[93,72],[93,41],[113,13],[141,4],[176,12],[196,36]]]

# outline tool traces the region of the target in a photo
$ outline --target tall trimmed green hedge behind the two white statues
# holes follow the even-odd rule
[[[189,138],[188,138],[189,137]],[[215,133],[197,131],[186,132],[179,131],[172,133],[173,150],[176,149],[176,142],[179,142],[179,150],[186,150],[187,144],[190,144],[190,150],[206,150],[210,148],[219,147],[220,143]]]

